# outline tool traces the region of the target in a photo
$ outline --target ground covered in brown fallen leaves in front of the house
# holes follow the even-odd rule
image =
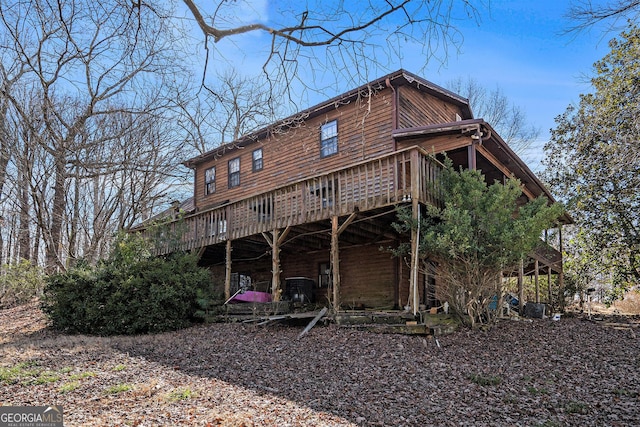
[[[64,335],[0,311],[0,403],[65,426],[640,425],[640,320],[501,321],[439,337],[211,324]]]

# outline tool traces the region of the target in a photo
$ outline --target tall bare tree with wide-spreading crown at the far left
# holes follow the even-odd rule
[[[118,112],[143,116],[167,106],[166,88],[181,73],[172,61],[172,29],[164,22],[157,7],[120,0],[0,5],[0,29],[8,40],[2,49],[21,64],[21,84],[31,87],[35,97],[25,102],[15,92],[2,91],[13,114],[30,129],[29,144],[40,151],[41,170],[32,177],[32,186],[39,189],[33,195],[34,218],[50,271],[64,267],[69,244],[77,244],[79,168],[94,165],[76,160],[127,132],[96,137],[92,130]],[[164,79],[167,75],[171,78]],[[34,102],[39,114],[27,107]]]

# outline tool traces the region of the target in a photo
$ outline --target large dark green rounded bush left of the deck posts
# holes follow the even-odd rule
[[[110,258],[97,267],[79,265],[50,276],[43,310],[54,328],[93,335],[133,335],[188,326],[197,296],[208,287],[208,270],[197,257],[175,253],[152,257],[140,239],[121,237]]]

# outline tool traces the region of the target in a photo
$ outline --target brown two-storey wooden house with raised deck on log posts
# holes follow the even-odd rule
[[[250,280],[275,300],[304,283],[336,310],[435,306],[436,278],[383,248],[407,239],[390,226],[398,205],[439,203],[443,152],[488,182],[519,178],[523,199],[553,200],[466,99],[399,70],[187,160],[177,246],[198,251],[227,297]],[[536,276],[561,274],[557,251],[532,260]]]

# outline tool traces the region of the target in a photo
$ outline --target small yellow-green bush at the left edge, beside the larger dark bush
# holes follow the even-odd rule
[[[27,260],[0,266],[0,308],[25,304],[42,295],[44,273]]]

